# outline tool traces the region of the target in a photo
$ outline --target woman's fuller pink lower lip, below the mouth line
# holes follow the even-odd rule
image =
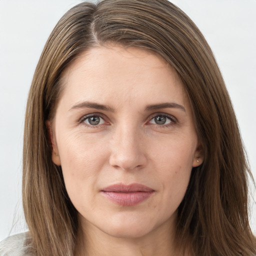
[[[123,206],[136,205],[146,200],[153,193],[153,191],[102,192],[108,199]]]

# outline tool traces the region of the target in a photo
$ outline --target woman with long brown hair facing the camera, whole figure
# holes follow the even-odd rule
[[[255,255],[248,174],[193,22],[165,0],[84,2],[57,23],[35,70],[23,148],[29,233],[1,249]]]

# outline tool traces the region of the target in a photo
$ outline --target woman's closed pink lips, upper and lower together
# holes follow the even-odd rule
[[[114,203],[123,206],[136,205],[146,200],[154,190],[148,186],[132,184],[114,184],[101,189],[102,194]]]

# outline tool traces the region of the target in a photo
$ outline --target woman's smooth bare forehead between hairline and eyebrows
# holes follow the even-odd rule
[[[156,54],[137,47],[99,46],[83,52],[63,73],[62,86],[62,96],[70,103],[136,98],[156,103],[175,99],[184,104],[186,99],[174,69]]]

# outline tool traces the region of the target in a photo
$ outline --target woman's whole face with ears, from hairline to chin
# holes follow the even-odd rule
[[[52,159],[82,226],[118,237],[173,226],[201,163],[176,73],[142,49],[101,46],[67,68],[63,86]]]

